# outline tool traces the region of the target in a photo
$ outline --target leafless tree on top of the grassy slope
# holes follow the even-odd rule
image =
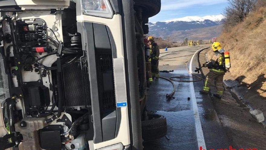
[[[225,28],[242,22],[255,8],[258,0],[228,0],[228,7],[224,10]]]

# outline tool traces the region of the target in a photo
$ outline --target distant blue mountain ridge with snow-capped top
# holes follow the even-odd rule
[[[199,16],[187,16],[183,18],[176,18],[172,20],[167,20],[164,22],[156,22],[156,23],[148,23],[149,26],[149,35],[153,35],[156,37],[162,37],[167,38],[170,37],[174,40],[180,41],[180,37],[172,37],[173,35],[176,35],[174,33],[183,33],[178,34],[182,37],[189,38],[189,35],[186,33],[189,33],[195,31],[195,29],[200,30],[200,28],[204,28],[204,30],[208,29],[208,27],[213,26],[219,26],[219,28],[209,28],[210,30],[222,30],[222,23],[223,23],[224,16],[223,15],[208,15],[204,17]],[[186,32],[181,32],[186,31]],[[210,39],[212,37],[218,36],[221,31],[208,31],[210,34],[207,34],[206,37],[200,36],[199,38],[206,40]],[[195,37],[193,37],[195,38]]]

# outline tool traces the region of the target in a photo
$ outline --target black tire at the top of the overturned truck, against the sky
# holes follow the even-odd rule
[[[161,10],[161,0],[134,0],[135,6],[144,7],[143,13],[145,18],[150,18],[158,14]]]

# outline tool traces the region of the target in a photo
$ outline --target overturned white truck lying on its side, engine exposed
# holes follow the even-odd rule
[[[145,113],[143,38],[160,8],[160,0],[0,2],[0,150],[142,149],[141,120],[158,118]]]

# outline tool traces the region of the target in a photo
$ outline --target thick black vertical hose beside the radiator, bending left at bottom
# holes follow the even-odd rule
[[[58,112],[55,116],[45,121],[46,124],[53,122],[55,119],[59,118],[62,114],[62,101],[63,101],[63,91],[62,91],[62,66],[60,58],[57,58],[57,92],[58,92]]]

